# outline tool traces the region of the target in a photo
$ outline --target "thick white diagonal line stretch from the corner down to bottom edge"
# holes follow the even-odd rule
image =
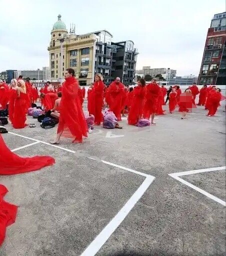
[[[114,230],[120,225],[127,214],[131,211],[133,206],[137,203],[140,197],[144,194],[146,189],[154,180],[154,177],[148,175],[128,199],[124,206],[118,211],[118,213],[110,220],[110,222],[102,229],[102,231],[95,237],[95,239],[88,245],[88,247],[80,254],[80,256],[94,256],[102,245],[107,241]]]

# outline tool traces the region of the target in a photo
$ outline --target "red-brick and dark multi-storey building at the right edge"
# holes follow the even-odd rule
[[[226,84],[226,12],[214,14],[207,31],[198,84]]]

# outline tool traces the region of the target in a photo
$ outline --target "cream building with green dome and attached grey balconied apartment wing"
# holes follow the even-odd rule
[[[65,69],[72,67],[80,85],[93,82],[95,73],[101,73],[105,83],[116,76],[131,83],[137,50],[132,41],[113,43],[111,39],[106,30],[76,35],[72,27],[68,33],[59,14],[48,47],[51,80],[62,81]]]

